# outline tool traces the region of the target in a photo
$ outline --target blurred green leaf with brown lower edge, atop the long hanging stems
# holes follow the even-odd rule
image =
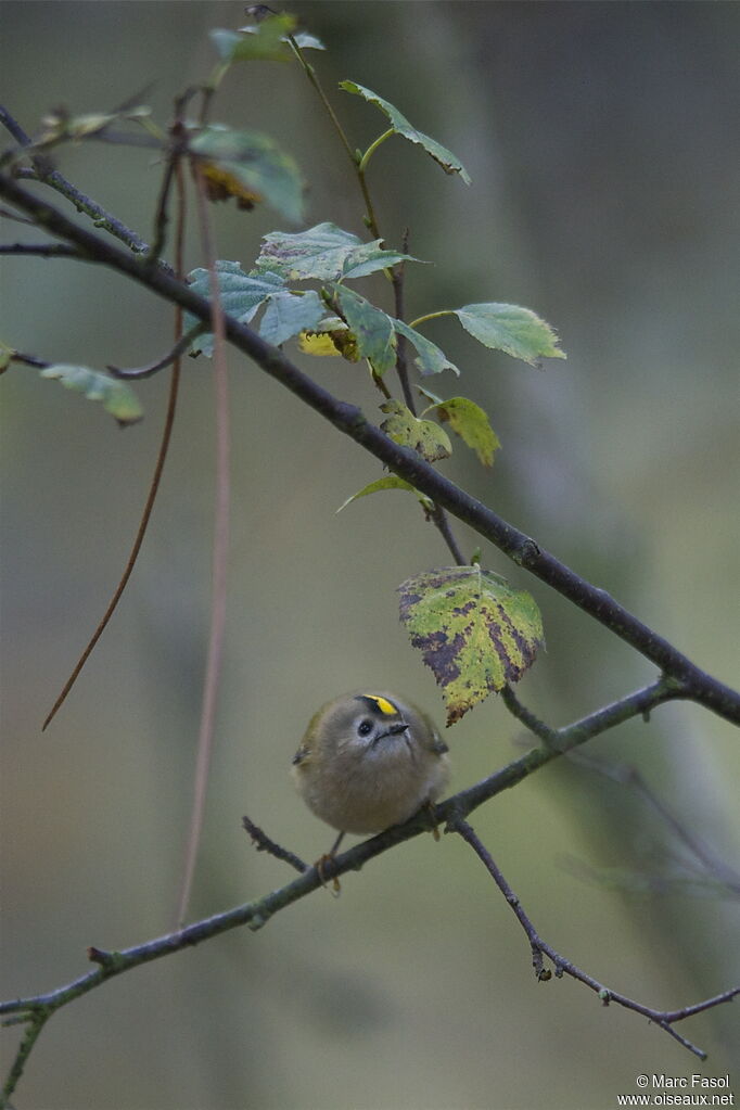
[[[257,131],[233,131],[212,123],[191,139],[190,149],[231,172],[288,220],[298,223],[303,219],[301,171],[274,139]]]

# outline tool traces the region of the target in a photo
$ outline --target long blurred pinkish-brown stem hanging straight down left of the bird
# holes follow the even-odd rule
[[[230,508],[230,433],[229,433],[229,367],[226,365],[226,337],[224,331],[224,313],[219,295],[219,275],[216,255],[211,234],[207,212],[205,182],[200,164],[193,162],[193,176],[197,196],[197,215],[201,228],[201,240],[206,266],[210,274],[211,327],[213,331],[213,384],[215,393],[215,426],[216,426],[216,490],[215,518],[213,524],[213,569],[211,598],[211,630],[209,634],[205,678],[203,683],[203,703],[201,707],[201,725],[197,739],[197,757],[195,766],[195,784],[193,809],[191,815],[185,866],[183,872],[180,901],[178,905],[178,927],[182,928],[195,874],[195,860],[203,829],[205,810],[205,794],[213,749],[216,695],[221,680],[221,659],[223,655],[224,629],[226,625],[226,565],[229,558],[229,508]]]

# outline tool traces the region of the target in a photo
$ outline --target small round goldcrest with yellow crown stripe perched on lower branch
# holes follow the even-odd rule
[[[327,825],[382,833],[439,797],[449,780],[447,750],[429,718],[395,694],[344,694],[314,714],[292,770],[301,797]]]

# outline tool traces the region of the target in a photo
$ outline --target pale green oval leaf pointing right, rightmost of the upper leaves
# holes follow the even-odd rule
[[[505,351],[537,366],[540,357],[565,359],[555,331],[531,309],[518,304],[466,304],[453,310],[466,332],[484,346]]]

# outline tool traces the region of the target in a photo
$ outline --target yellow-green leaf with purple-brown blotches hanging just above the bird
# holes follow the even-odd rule
[[[518,682],[544,644],[531,595],[479,566],[428,571],[398,592],[401,619],[442,687],[448,725]]]

